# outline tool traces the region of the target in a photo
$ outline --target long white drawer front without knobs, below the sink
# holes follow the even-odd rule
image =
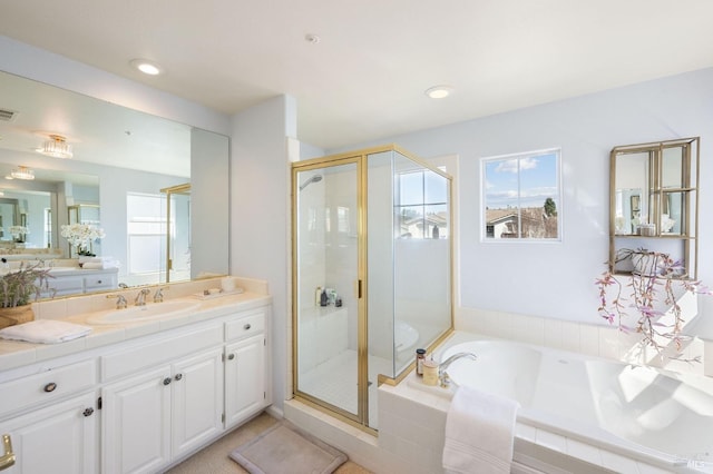
[[[155,340],[130,349],[117,352],[101,357],[101,379],[108,381],[123,375],[133,374],[146,367],[153,367],[176,357],[212,348],[223,343],[221,325],[196,329],[184,334]]]

